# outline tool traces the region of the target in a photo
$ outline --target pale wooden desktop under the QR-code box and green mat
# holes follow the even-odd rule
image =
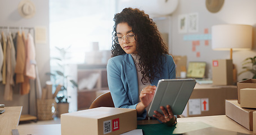
[[[236,123],[232,119],[228,118],[226,115],[217,116],[201,116],[201,117],[191,117],[191,118],[178,118],[178,123],[185,122],[203,122],[212,125],[215,128],[226,129],[228,131],[236,131],[241,133],[253,134],[253,131],[242,127],[242,125]],[[138,124],[156,124],[159,123],[157,120],[141,120]],[[61,125],[19,125],[17,127],[20,135],[27,134],[60,134],[61,135]]]

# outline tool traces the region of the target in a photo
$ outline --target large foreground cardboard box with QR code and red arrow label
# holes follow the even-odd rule
[[[98,107],[61,115],[61,134],[121,134],[137,128],[135,109]]]

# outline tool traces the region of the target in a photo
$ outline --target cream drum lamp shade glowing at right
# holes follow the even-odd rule
[[[213,50],[251,50],[253,26],[224,24],[212,26]]]

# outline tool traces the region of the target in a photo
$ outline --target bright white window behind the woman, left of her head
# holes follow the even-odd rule
[[[68,63],[81,64],[93,50],[92,42],[98,42],[99,50],[111,49],[115,0],[50,0],[49,4],[51,57],[57,57],[55,46],[70,46]]]

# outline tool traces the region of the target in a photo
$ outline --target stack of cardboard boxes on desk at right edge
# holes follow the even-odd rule
[[[256,134],[256,79],[237,83],[237,100],[226,100],[226,115]]]

